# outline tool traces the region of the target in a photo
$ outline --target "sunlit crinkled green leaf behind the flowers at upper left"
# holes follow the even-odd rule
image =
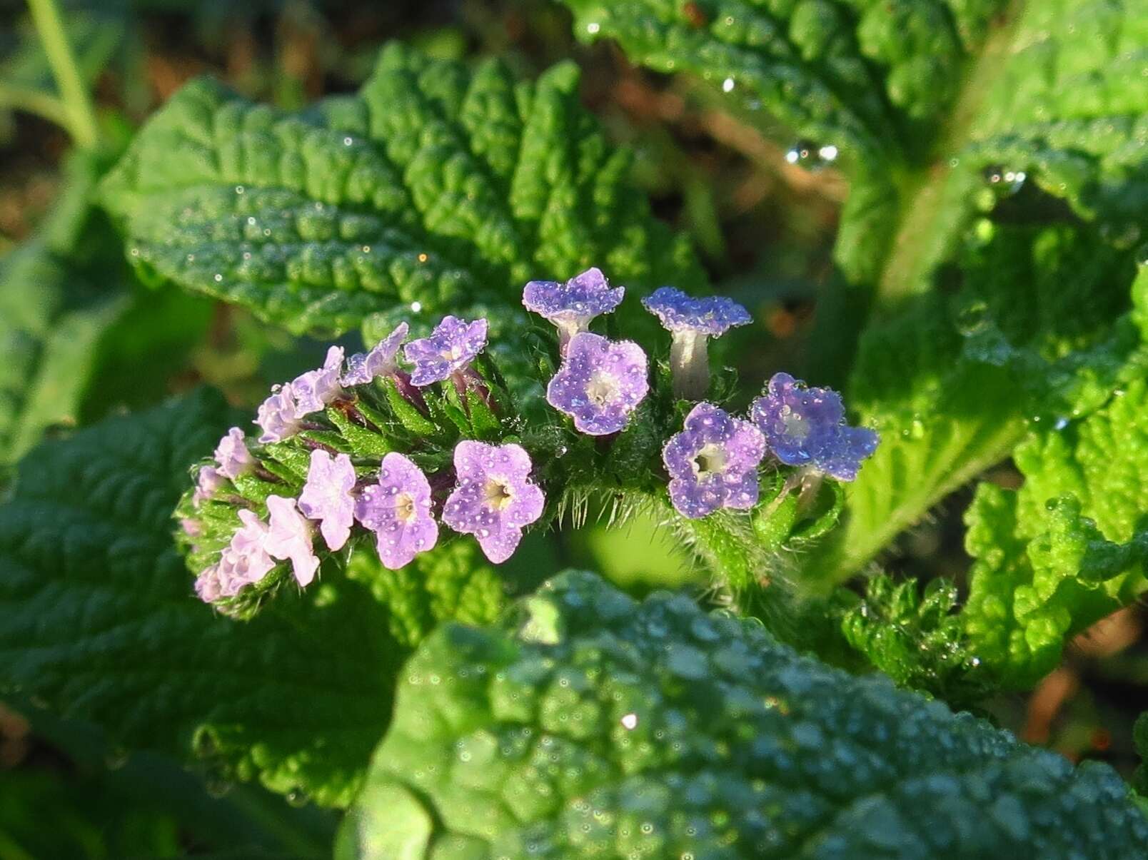
[[[590,265],[696,286],[579,103],[561,63],[536,84],[393,44],[358,95],[298,115],[196,80],[103,185],[132,258],[293,332],[341,332],[410,304],[518,304],[530,278]]]

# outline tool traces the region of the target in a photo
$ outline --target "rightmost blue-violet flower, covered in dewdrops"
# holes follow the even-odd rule
[[[789,373],[775,373],[767,393],[753,401],[750,417],[769,450],[790,466],[812,466],[841,481],[858,477],[861,460],[881,437],[845,424],[841,397],[830,388],[808,388]]]

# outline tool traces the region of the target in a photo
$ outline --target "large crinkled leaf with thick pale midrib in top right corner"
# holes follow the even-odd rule
[[[1118,234],[1142,224],[1139,0],[564,2],[580,38],[836,147],[852,183],[836,256],[886,299],[926,286],[986,171],[1024,173]]]

